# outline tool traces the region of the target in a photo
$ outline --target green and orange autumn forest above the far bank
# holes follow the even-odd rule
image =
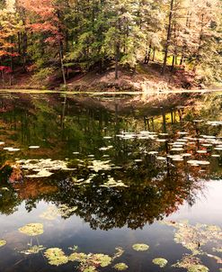
[[[141,65],[153,65],[156,77],[189,75],[200,86],[220,86],[221,4],[1,0],[0,85],[13,86],[25,77],[31,84],[49,86],[55,81],[65,88],[71,78],[107,70],[115,82],[122,69],[133,77]]]

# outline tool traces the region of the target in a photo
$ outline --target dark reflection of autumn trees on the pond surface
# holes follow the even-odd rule
[[[0,155],[1,213],[13,213],[22,201],[31,212],[44,200],[71,210],[76,206],[68,217],[75,213],[92,229],[137,229],[162,220],[184,202],[194,204],[204,187],[201,180],[221,178],[220,150],[212,158],[209,141],[219,146],[221,125],[193,122],[192,107],[155,108],[148,116],[144,109],[121,113],[116,105],[113,112],[98,99],[59,95],[6,95],[1,104],[1,147],[20,149]],[[206,140],[203,133],[214,136]],[[194,161],[207,158],[210,165],[191,167],[178,149]],[[52,176],[34,177],[38,169],[27,168],[27,159],[42,158]],[[57,163],[49,167],[58,159],[69,170]]]

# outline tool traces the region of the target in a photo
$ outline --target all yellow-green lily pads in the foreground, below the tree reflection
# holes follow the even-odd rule
[[[74,207],[73,209],[75,209]],[[58,214],[66,216],[70,212],[70,209],[61,204],[58,209],[50,207],[40,217],[53,220]],[[176,263],[172,264],[172,267],[180,267],[186,269],[188,272],[209,272],[209,268],[201,262],[201,257],[211,258],[218,264],[222,264],[222,258],[218,254],[222,252],[222,230],[217,225],[207,225],[197,223],[195,225],[190,224],[188,221],[183,222],[164,222],[165,225],[173,227],[174,241],[181,244],[183,248],[190,251],[182,255],[182,258]],[[19,230],[22,234],[28,235],[31,238],[37,237],[44,232],[43,224],[40,222],[29,223]],[[0,247],[6,245],[6,240],[0,240]],[[61,266],[68,262],[75,262],[78,264],[78,270],[82,272],[98,271],[100,267],[112,266],[114,269],[123,271],[129,269],[129,265],[123,262],[116,261],[124,254],[124,249],[116,248],[116,252],[113,256],[103,253],[84,253],[79,252],[78,247],[74,246],[69,248],[70,253],[65,253],[63,249],[49,248],[47,249],[39,243],[37,245],[28,244],[28,249],[20,251],[24,255],[44,254],[48,259],[49,265]],[[207,246],[207,247],[206,247]],[[209,252],[209,246],[211,247]],[[149,251],[149,245],[145,243],[135,243],[132,245],[132,249],[135,251]],[[214,252],[214,253],[211,253]],[[165,258],[158,257],[152,260],[155,266],[160,268],[169,266],[169,261]]]

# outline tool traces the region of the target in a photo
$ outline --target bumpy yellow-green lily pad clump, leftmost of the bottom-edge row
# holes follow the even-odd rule
[[[58,248],[47,249],[44,255],[46,258],[48,258],[49,264],[52,266],[58,267],[68,262],[68,258],[62,249]]]

